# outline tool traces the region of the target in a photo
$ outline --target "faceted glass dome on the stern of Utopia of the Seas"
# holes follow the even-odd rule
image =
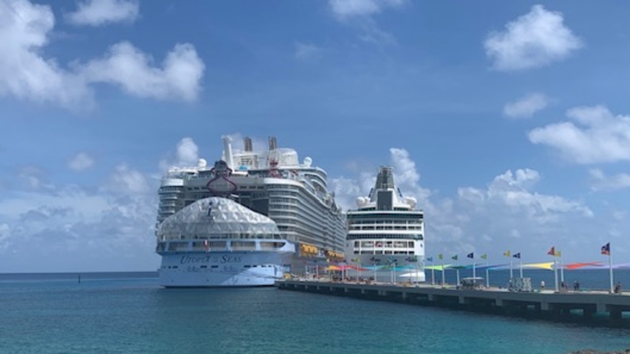
[[[157,227],[161,241],[181,239],[280,238],[275,222],[233,200],[197,200],[166,218]]]

